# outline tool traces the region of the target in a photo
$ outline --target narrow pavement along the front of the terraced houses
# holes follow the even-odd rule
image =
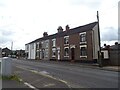
[[[80,63],[80,62],[69,62],[69,61],[49,61],[49,60],[33,60],[33,59],[30,59],[29,61],[64,64],[64,65],[120,72],[120,66],[107,65],[107,66],[99,67],[98,63]]]

